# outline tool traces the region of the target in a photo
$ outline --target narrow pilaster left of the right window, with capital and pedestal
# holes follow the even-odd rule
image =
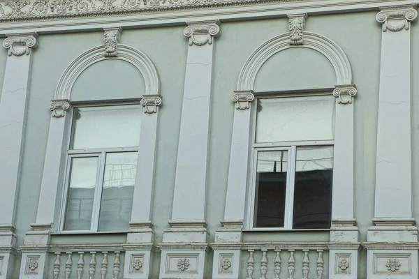
[[[240,274],[240,258],[242,255],[242,229],[246,206],[248,185],[247,169],[249,162],[251,133],[251,103],[255,96],[253,91],[235,91],[232,96],[235,103],[233,119],[233,135],[230,149],[230,165],[226,209],[221,227],[216,230],[212,264],[213,278],[238,279]],[[229,262],[228,269],[224,262]]]

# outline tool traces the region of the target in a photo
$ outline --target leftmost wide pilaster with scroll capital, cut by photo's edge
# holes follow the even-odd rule
[[[38,34],[8,34],[6,71],[0,96],[0,278],[13,271],[15,246],[15,205],[19,192],[20,167],[27,119],[27,99],[31,77],[31,50],[38,47]]]

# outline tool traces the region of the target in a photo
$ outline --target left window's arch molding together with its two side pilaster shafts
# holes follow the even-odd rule
[[[149,57],[128,45],[118,44],[117,56],[106,57],[104,47],[87,50],[78,56],[64,70],[50,104],[52,111],[50,130],[41,181],[41,193],[38,202],[36,221],[31,225],[34,230],[52,230],[58,232],[59,212],[61,210],[64,187],[66,156],[72,121],[71,91],[77,78],[89,66],[99,61],[118,59],[131,63],[138,69],[145,80],[145,94],[140,105],[144,107],[141,116],[137,174],[135,179],[133,210],[130,224],[142,224],[152,227],[152,191],[154,186],[154,158],[156,155],[156,136],[159,122],[159,107],[162,105],[160,81],[156,67]],[[141,194],[139,194],[141,193]],[[51,198],[53,197],[53,198]]]

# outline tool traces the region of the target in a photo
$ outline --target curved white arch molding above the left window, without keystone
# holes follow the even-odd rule
[[[147,55],[133,47],[118,45],[118,56],[108,58],[103,54],[103,45],[94,47],[78,56],[59,79],[54,100],[71,100],[71,90],[78,76],[89,66],[105,59],[119,59],[131,63],[137,68],[145,82],[145,95],[157,95],[160,92],[159,75],[156,67]],[[139,96],[140,97],[140,96]]]

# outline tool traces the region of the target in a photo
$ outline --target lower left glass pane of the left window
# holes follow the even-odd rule
[[[90,230],[98,157],[72,158],[64,230]]]

